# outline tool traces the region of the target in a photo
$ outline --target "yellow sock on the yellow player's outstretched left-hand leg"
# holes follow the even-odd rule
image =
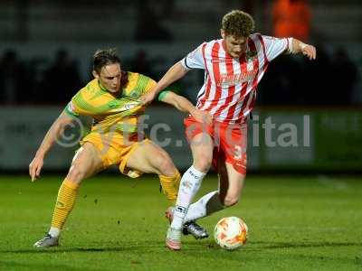
[[[61,188],[58,192],[58,198],[55,203],[55,208],[52,213],[52,227],[62,229],[62,226],[67,220],[71,210],[73,209],[74,202],[77,198],[79,185],[75,184],[68,179],[62,182]]]

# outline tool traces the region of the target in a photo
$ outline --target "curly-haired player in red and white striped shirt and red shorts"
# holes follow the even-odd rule
[[[250,14],[239,10],[225,14],[222,39],[202,43],[171,67],[157,87],[141,98],[148,103],[188,70],[205,70],[205,83],[198,92],[196,107],[210,113],[214,121],[205,126],[192,116],[185,119],[194,163],[182,176],[175,210],[169,210],[172,223],[167,230],[166,245],[170,249],[181,248],[183,223],[239,201],[246,174],[247,118],[270,61],[281,53],[302,53],[310,60],[316,58],[312,45],[292,37],[252,33],[253,29]],[[211,165],[219,174],[219,189],[190,205]]]

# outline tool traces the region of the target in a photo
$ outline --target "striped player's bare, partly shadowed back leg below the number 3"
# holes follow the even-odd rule
[[[232,206],[239,201],[243,190],[245,175],[235,170],[233,164],[219,163],[219,194],[225,206]]]

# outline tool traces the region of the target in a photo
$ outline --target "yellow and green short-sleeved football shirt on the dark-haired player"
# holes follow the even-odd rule
[[[139,73],[127,74],[129,82],[119,91],[119,96],[104,89],[99,79],[93,79],[71,98],[65,112],[71,117],[92,117],[91,132],[136,133],[138,117],[145,111],[138,98],[155,87],[156,82]]]

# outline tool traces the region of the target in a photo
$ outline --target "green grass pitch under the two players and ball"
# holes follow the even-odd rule
[[[221,218],[242,217],[243,248],[187,236],[172,252],[157,177],[100,175],[83,182],[61,247],[34,249],[61,182],[0,178],[0,270],[362,270],[361,178],[249,176],[238,205],[199,220],[213,233]],[[198,196],[215,187],[207,176]]]

